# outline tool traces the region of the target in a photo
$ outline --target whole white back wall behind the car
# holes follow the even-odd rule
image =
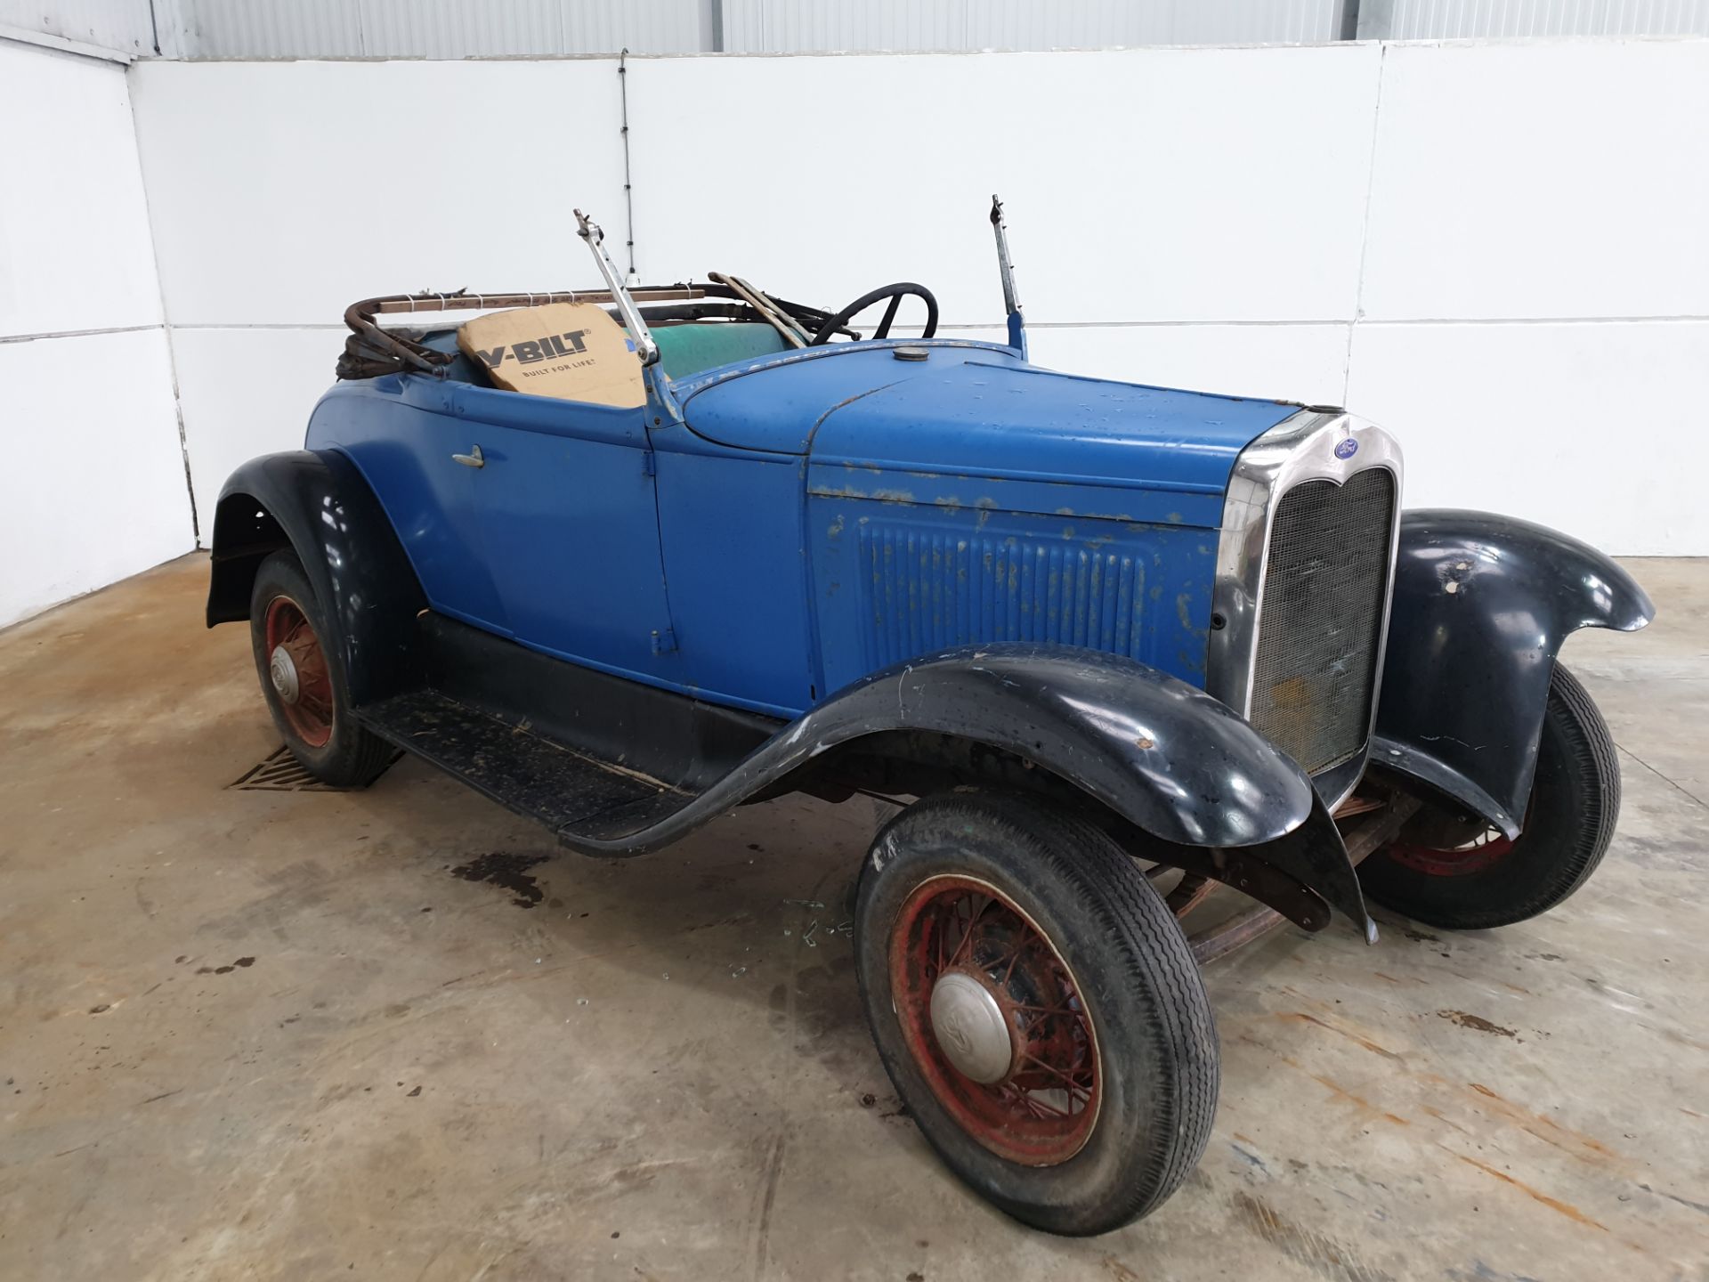
[[[1381,111],[1376,46],[643,60],[637,260],[653,280],[721,268],[832,306],[916,279],[947,328],[993,325],[1000,190],[1037,361],[1345,402],[1401,432],[1412,503],[1512,509],[1617,552],[1709,552],[1688,484],[1709,462],[1704,325],[1555,323],[1709,315],[1690,162],[1706,51],[1391,46]],[[342,333],[289,326],[364,292],[590,285],[573,203],[622,256],[612,62],[133,77],[203,504],[243,458],[296,446],[332,381]],[[1583,85],[1608,87],[1598,111]],[[861,109],[776,111],[755,133],[730,128],[735,101]],[[424,103],[431,147],[467,164],[345,138],[347,120]],[[1642,137],[1666,154],[1632,166]],[[1637,197],[1622,209],[1596,183]],[[1506,316],[1531,323],[1477,323]]]

